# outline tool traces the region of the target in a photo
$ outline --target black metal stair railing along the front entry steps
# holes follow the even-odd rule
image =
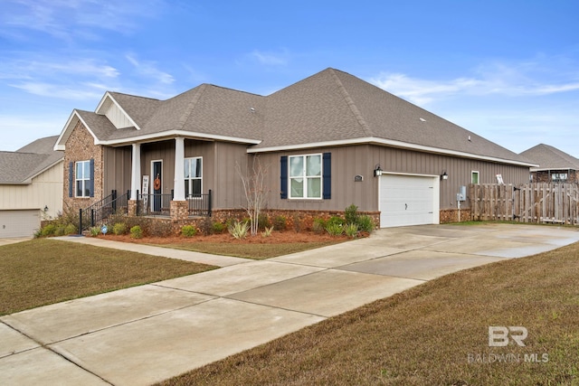
[[[113,214],[127,214],[130,192],[117,195],[114,190],[107,197],[95,202],[88,208],[79,210],[79,234],[90,227],[102,225]]]

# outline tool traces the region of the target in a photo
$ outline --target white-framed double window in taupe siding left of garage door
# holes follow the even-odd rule
[[[322,155],[289,156],[289,198],[322,198]]]

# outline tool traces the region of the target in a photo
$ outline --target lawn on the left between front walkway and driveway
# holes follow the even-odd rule
[[[5,245],[0,247],[0,315],[213,268],[69,241]]]

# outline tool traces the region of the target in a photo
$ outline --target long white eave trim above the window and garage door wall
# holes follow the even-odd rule
[[[456,150],[443,149],[440,147],[410,144],[410,143],[406,143],[406,142],[395,141],[392,139],[384,139],[384,138],[377,138],[377,137],[343,139],[343,140],[337,140],[337,141],[317,142],[317,143],[310,143],[310,144],[299,144],[299,145],[288,145],[288,146],[271,146],[271,147],[262,147],[262,148],[250,148],[247,150],[247,152],[248,153],[269,153],[269,152],[279,152],[279,151],[287,151],[287,150],[299,150],[299,149],[306,149],[306,148],[312,148],[312,147],[348,146],[348,145],[363,145],[363,144],[399,147],[399,148],[408,149],[408,150],[416,150],[416,151],[420,151],[420,152],[424,152],[424,153],[436,153],[436,154],[441,154],[441,155],[452,155],[452,156],[458,156],[461,158],[471,158],[471,159],[477,159],[477,160],[481,160],[481,161],[498,162],[501,164],[510,164],[510,165],[527,166],[527,167],[538,166],[536,164],[530,164],[527,162],[516,161],[516,160],[511,160],[511,159],[498,158],[498,157],[489,156],[489,155],[475,155],[475,154],[460,152],[460,151],[456,151]]]

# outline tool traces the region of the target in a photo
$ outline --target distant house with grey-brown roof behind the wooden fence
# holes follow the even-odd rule
[[[579,159],[553,146],[539,144],[521,155],[538,164],[531,167],[534,183],[579,183]]]

